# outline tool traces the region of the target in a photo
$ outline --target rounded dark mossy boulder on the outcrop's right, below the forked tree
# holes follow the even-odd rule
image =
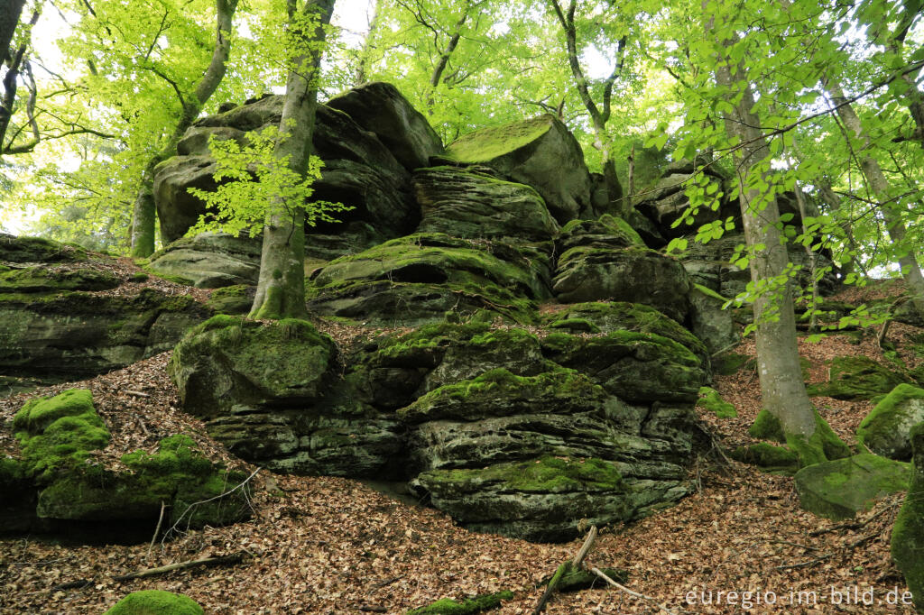
[[[690,282],[683,265],[645,247],[572,247],[558,259],[553,293],[562,303],[612,299],[687,319]]]

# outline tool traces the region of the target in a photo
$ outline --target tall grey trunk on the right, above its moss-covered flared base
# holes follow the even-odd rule
[[[703,10],[708,10],[705,2]],[[708,30],[713,30],[711,25]],[[727,49],[734,42],[725,41],[723,44]],[[715,80],[723,87],[726,101],[734,107],[734,113],[725,119],[725,130],[730,138],[737,138],[745,144],[736,155],[745,237],[748,247],[766,246],[750,260],[751,280],[758,283],[783,275],[789,264],[789,255],[777,228],[780,226],[780,211],[775,197],[764,199],[767,206],[758,211],[755,204],[762,198],[760,192],[746,187],[746,176],[757,164],[770,157],[770,150],[760,132],[760,126],[763,126],[760,118],[751,111],[754,94],[748,82],[747,69],[745,66],[736,68],[733,76],[728,58],[720,58],[715,68]],[[736,101],[736,93],[740,100]],[[754,300],[760,399],[763,407],[780,419],[787,440],[789,437],[808,440],[815,432],[815,412],[799,366],[790,285],[785,283],[776,297],[761,294]],[[768,319],[774,308],[777,318]]]

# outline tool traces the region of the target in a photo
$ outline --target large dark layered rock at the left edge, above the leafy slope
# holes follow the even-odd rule
[[[0,258],[51,262],[0,261],[0,376],[51,383],[124,368],[169,350],[210,315],[188,296],[123,289],[130,281],[105,259],[63,261],[82,251],[30,238],[4,243]]]

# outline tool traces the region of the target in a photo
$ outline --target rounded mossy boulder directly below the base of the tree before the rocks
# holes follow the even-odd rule
[[[184,409],[213,417],[232,406],[310,403],[321,397],[334,343],[305,320],[215,316],[176,345],[169,372]]]

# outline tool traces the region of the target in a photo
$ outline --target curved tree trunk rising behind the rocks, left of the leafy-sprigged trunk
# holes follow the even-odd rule
[[[215,0],[216,24],[215,46],[212,61],[202,75],[196,90],[188,100],[180,100],[183,106],[173,134],[167,139],[161,151],[157,152],[141,174],[141,187],[135,199],[131,223],[131,256],[147,258],[154,252],[154,226],[157,212],[153,196],[154,167],[176,154],[176,143],[183,138],[188,127],[196,121],[202,106],[208,103],[215,90],[225,78],[228,57],[231,54],[231,31],[234,29],[234,14],[239,0]]]

